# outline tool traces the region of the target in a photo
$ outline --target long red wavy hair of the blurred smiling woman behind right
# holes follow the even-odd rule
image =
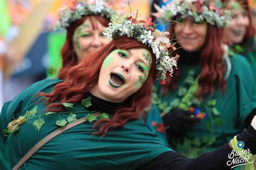
[[[174,34],[174,27],[169,27],[170,35]],[[217,83],[217,87],[220,91],[224,91],[226,88],[226,81],[224,80],[224,74],[226,65],[223,60],[224,50],[221,47],[221,37],[223,36],[223,29],[207,24],[207,35],[204,45],[200,48],[200,77],[198,80],[199,89],[197,96],[200,99],[203,95],[210,93],[214,94],[214,85]],[[177,49],[173,56],[179,54],[180,50]],[[180,56],[182,57],[182,56]],[[167,73],[169,74],[169,73]],[[179,75],[179,60],[178,70],[173,73],[173,76],[167,76],[167,82],[163,87],[166,94],[169,90],[177,89]]]

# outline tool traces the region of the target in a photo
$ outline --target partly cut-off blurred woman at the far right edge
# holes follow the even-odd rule
[[[231,1],[228,6],[232,10],[232,19],[224,29],[224,42],[230,45],[234,52],[244,55],[256,70],[255,27],[248,1]]]

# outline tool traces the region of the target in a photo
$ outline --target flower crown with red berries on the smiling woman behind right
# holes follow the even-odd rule
[[[205,21],[220,28],[231,20],[230,10],[221,8],[223,3],[219,0],[173,0],[161,8],[156,4],[154,6],[158,11],[154,16],[161,22],[181,15],[181,18],[192,17],[196,23]]]

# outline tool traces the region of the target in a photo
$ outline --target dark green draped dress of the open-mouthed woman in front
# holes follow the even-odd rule
[[[13,117],[17,119],[24,114],[33,113],[33,117],[44,114],[45,104],[38,102],[35,95],[39,91],[49,93],[60,80],[43,80],[32,84],[14,100],[4,104],[2,112],[6,127]],[[35,108],[36,107],[36,108]],[[28,111],[26,111],[28,110]],[[35,111],[36,110],[36,111]],[[62,113],[30,119],[24,122],[5,141],[6,152],[11,158],[11,166],[30,150],[39,140],[52,131],[60,128],[56,121],[71,113],[82,110],[76,118],[91,114],[76,103],[70,110]],[[35,120],[44,119],[41,129],[33,127]],[[152,131],[142,120],[137,119],[125,124],[123,128],[110,130],[105,137],[92,135],[95,122],[77,125],[51,139],[23,164],[21,169],[136,169],[146,164],[159,154],[172,151],[158,134]]]

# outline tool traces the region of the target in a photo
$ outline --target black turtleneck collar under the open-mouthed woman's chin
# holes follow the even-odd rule
[[[91,106],[86,108],[89,111],[102,111],[107,114],[114,114],[118,109],[123,107],[129,107],[131,102],[131,96],[128,97],[124,102],[121,103],[113,103],[109,101],[105,101],[102,98],[96,97],[91,93],[86,93],[85,98],[91,97]]]

